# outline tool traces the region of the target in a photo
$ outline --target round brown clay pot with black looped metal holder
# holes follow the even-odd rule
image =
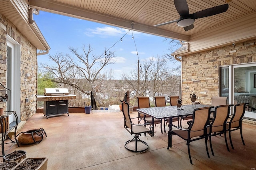
[[[26,132],[21,132],[19,135],[19,142],[21,144],[34,144],[40,143],[44,136],[47,137],[46,132],[43,128],[28,130]]]

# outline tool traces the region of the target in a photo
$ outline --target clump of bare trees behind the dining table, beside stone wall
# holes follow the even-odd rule
[[[180,75],[177,75],[177,67],[170,66],[165,57],[152,58],[143,61],[138,69],[130,74],[123,74],[123,78],[135,90],[137,96],[151,97],[158,95],[179,95]]]

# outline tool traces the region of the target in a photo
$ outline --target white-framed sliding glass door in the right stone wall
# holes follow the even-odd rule
[[[220,67],[220,96],[230,104],[248,103],[244,117],[256,119],[256,63]]]

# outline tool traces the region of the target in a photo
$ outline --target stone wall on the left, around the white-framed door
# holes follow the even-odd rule
[[[36,92],[37,92],[37,56],[36,47],[23,36],[19,30],[2,14],[0,14],[0,82],[6,85],[6,45],[7,35],[12,37],[21,45],[20,61],[20,120],[27,121],[36,113]],[[14,94],[15,96],[15,94]],[[28,102],[25,102],[25,99]],[[6,106],[0,103],[0,107]],[[19,106],[18,106],[19,107]]]

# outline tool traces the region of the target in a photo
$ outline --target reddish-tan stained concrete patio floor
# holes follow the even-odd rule
[[[133,112],[131,117],[136,117]],[[208,148],[207,157],[204,140],[190,144],[193,165],[190,164],[186,142],[178,136],[172,137],[172,148],[167,150],[167,133],[155,127],[154,137],[140,136],[148,143],[144,153],[134,153],[124,148],[124,142],[132,139],[123,125],[122,112],[92,111],[90,114],[70,113],[46,117],[36,113],[19,132],[44,128],[47,138],[39,144],[14,144],[6,154],[14,150],[25,150],[27,158],[47,157],[48,170],[252,170],[256,168],[256,126],[243,124],[245,146],[240,131],[232,132],[234,150],[228,141],[228,152],[224,135],[212,137],[215,156]],[[175,123],[175,122],[174,122]],[[184,124],[185,125],[185,124]],[[168,129],[168,127],[166,127]],[[228,139],[229,140],[229,139]],[[8,147],[8,146],[6,146]],[[1,158],[2,159],[2,158]]]

